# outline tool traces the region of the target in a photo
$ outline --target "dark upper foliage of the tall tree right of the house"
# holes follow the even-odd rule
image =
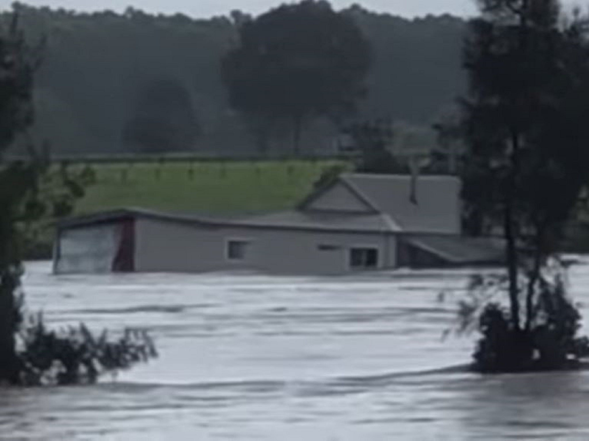
[[[517,201],[512,230],[542,230],[550,247],[587,177],[587,34],[580,19],[561,28],[556,1],[482,5],[465,46],[465,201],[484,199],[492,222]]]

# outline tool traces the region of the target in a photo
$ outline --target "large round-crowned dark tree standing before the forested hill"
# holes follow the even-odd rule
[[[231,105],[293,126],[294,152],[309,119],[353,111],[365,94],[370,48],[352,19],[325,1],[282,5],[244,21],[221,72]]]

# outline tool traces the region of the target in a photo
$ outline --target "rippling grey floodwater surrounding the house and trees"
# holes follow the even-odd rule
[[[150,329],[160,358],[90,387],[0,391],[1,440],[589,439],[589,372],[452,371],[442,341],[468,271],[346,278],[52,276],[28,266],[53,326]],[[570,273],[589,301],[589,260]],[[457,294],[458,295],[458,294]],[[583,307],[589,317],[589,310]]]

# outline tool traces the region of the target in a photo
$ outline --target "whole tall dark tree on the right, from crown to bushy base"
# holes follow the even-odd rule
[[[464,55],[464,197],[501,225],[507,278],[496,285],[509,298],[507,311],[482,313],[478,360],[499,350],[493,370],[518,370],[540,353],[540,365],[562,367],[577,348],[578,313],[548,263],[587,180],[587,32],[580,17],[561,25],[556,0],[478,4]]]

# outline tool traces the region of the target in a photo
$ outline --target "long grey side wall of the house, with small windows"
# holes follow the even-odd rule
[[[348,273],[349,248],[379,249],[379,268],[396,265],[396,238],[380,233],[313,232],[261,228],[207,228],[188,223],[137,218],[135,270],[211,272],[259,270],[274,274]],[[248,240],[246,259],[230,261],[226,242]],[[320,250],[319,245],[336,246]]]

